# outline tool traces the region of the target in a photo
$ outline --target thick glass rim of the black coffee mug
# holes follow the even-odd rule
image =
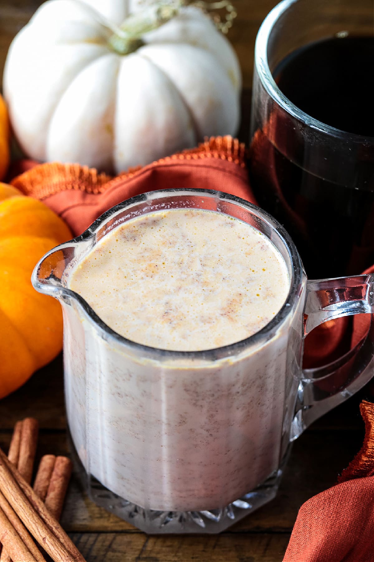
[[[298,106],[291,102],[291,100],[280,90],[276,81],[273,79],[267,57],[268,39],[270,38],[271,32],[279,18],[290,8],[290,6],[299,1],[300,0],[282,0],[268,13],[258,30],[254,46],[254,66],[263,87],[266,89],[268,95],[273,98],[273,100],[286,113],[294,117],[294,119],[301,121],[304,125],[317,129],[321,133],[327,133],[332,137],[344,140],[344,142],[350,140],[360,144],[368,142],[374,143],[374,137],[349,133],[342,129],[337,129],[331,125],[327,125],[318,119],[314,119],[314,117],[311,117],[304,111],[300,110]]]

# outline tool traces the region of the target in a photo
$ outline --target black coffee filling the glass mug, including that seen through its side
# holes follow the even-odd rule
[[[309,277],[357,274],[374,264],[374,37],[343,31],[309,43],[271,74],[306,114],[308,143],[305,129],[290,126],[286,101],[285,111],[276,107],[256,124],[254,100],[250,179],[257,201],[288,229]],[[333,142],[313,141],[313,130],[324,125],[345,149],[345,136],[355,139],[350,177],[339,178],[347,161]]]

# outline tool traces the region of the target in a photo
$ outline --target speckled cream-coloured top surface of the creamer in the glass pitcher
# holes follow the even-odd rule
[[[252,226],[220,212],[171,209],[113,229],[76,266],[69,287],[134,342],[199,351],[261,330],[290,280],[280,252]]]

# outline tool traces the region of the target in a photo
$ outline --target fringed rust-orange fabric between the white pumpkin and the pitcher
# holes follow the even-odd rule
[[[56,211],[77,235],[104,211],[157,189],[216,189],[255,202],[248,183],[244,144],[231,137],[162,158],[117,178],[77,164],[41,164],[12,180],[26,195]]]

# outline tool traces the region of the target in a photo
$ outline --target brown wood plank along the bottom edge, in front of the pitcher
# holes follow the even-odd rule
[[[87,562],[276,562],[288,534],[146,537],[128,533],[72,534]]]

